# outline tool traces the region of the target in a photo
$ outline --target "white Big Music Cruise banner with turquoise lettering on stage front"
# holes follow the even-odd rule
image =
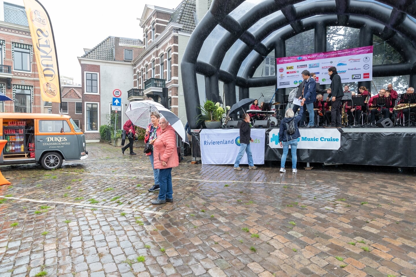
[[[341,133],[338,129],[299,129],[297,149],[337,150],[341,147]],[[279,129],[272,129],[269,133],[269,147],[282,148],[279,145]]]

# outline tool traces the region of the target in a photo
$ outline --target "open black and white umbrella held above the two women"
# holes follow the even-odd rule
[[[150,114],[152,111],[157,111],[161,116],[166,118],[173,129],[175,129],[176,133],[182,138],[182,141],[185,142],[186,134],[182,121],[176,114],[166,109],[158,102],[150,100],[132,101],[129,106],[127,106],[126,116],[134,125],[146,129],[150,124]]]

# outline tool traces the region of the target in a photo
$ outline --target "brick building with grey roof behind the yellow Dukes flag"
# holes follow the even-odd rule
[[[25,7],[1,1],[0,91],[13,101],[0,101],[0,112],[42,112],[39,74]]]

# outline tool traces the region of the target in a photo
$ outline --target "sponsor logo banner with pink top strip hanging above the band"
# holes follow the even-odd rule
[[[277,87],[296,87],[307,69],[320,84],[331,84],[328,68],[337,67],[343,83],[373,79],[373,46],[277,58]]]

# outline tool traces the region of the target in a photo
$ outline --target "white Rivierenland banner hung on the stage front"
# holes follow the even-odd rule
[[[254,164],[264,164],[266,129],[251,129],[250,143]],[[200,133],[202,164],[234,164],[240,150],[239,129],[203,129]],[[240,164],[248,164],[244,153]]]

